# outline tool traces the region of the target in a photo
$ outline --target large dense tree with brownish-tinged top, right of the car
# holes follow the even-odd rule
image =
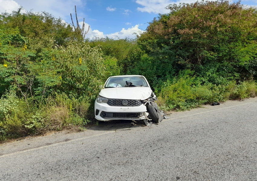
[[[215,82],[217,78],[256,78],[255,8],[229,1],[182,3],[167,8],[170,13],[150,22],[138,39],[153,59],[152,69],[158,69],[158,80],[188,68],[213,84],[225,82]],[[211,75],[206,76],[208,72]]]

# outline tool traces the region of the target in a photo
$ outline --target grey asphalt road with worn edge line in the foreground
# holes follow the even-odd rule
[[[0,180],[257,180],[257,98],[0,145]]]

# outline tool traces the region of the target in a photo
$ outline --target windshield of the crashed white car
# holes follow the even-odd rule
[[[148,85],[144,77],[111,77],[105,87],[148,87]]]

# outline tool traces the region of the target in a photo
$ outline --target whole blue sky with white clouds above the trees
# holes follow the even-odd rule
[[[82,24],[90,25],[88,38],[119,37],[134,38],[133,33],[142,33],[148,23],[158,16],[167,13],[165,7],[173,3],[192,3],[196,0],[0,0],[0,13],[17,10],[19,6],[24,11],[46,11],[55,17],[61,17],[71,23],[70,13],[75,18],[74,5]],[[244,5],[257,5],[257,0],[241,1]],[[88,26],[86,26],[88,27]],[[87,29],[87,28],[85,28]]]

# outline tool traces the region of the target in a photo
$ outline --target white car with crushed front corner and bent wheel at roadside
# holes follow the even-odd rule
[[[95,118],[100,121],[115,119],[150,120],[161,122],[154,92],[142,75],[112,76],[107,79],[95,101]]]

